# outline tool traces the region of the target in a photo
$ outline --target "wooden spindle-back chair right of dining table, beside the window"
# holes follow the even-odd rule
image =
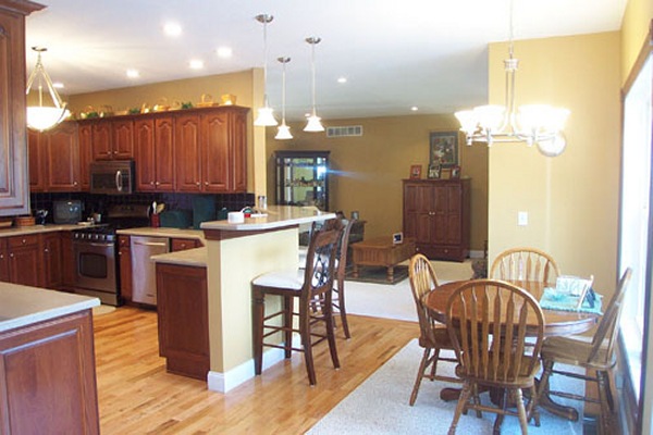
[[[619,279],[615,294],[612,296],[605,313],[596,327],[591,340],[584,336],[555,336],[547,337],[542,344],[542,361],[544,371],[540,378],[538,395],[540,400],[546,396],[559,396],[568,399],[590,401],[601,405],[600,424],[601,433],[613,432],[614,398],[611,389],[611,373],[616,364],[615,341],[619,332],[619,318],[626,287],[632,271],[626,269]],[[586,374],[572,373],[566,370],[554,370],[555,363],[580,366],[586,369]],[[589,373],[595,372],[592,376]],[[552,374],[562,374],[582,381],[595,382],[599,386],[599,400],[568,391],[550,389]]]

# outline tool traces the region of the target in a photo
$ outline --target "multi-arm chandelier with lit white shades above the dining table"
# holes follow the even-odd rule
[[[510,35],[508,59],[505,69],[505,105],[479,105],[472,110],[456,112],[460,130],[467,136],[467,145],[486,142],[526,142],[538,146],[547,157],[559,156],[567,141],[563,133],[569,110],[547,104],[528,104],[515,108],[515,75],[519,60],[514,58],[513,2],[510,1]]]

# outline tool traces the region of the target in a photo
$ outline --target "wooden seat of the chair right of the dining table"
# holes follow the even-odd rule
[[[596,358],[590,361],[592,352],[591,337],[549,337],[542,344],[543,360],[553,360],[563,364],[580,365],[588,369],[607,370],[615,365],[616,357],[607,358],[607,347],[599,349]],[[606,363],[603,363],[605,362]]]

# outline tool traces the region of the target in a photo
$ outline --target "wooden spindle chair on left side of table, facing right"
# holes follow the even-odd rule
[[[412,298],[415,299],[417,318],[419,320],[419,346],[424,349],[417,371],[415,386],[410,394],[409,403],[412,406],[415,405],[415,400],[417,400],[419,386],[424,377],[430,381],[439,380],[455,383],[460,383],[461,381],[459,377],[438,374],[439,361],[458,362],[458,360],[440,356],[441,350],[453,350],[454,346],[446,331],[446,325],[436,322],[429,314],[429,309],[422,300],[429,291],[438,291],[439,286],[435,271],[433,271],[433,266],[427,257],[421,253],[412,256],[408,266],[408,279],[412,289]]]

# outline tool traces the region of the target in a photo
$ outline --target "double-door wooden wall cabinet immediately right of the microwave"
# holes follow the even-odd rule
[[[134,122],[136,189],[174,191],[174,121],[172,116]]]

